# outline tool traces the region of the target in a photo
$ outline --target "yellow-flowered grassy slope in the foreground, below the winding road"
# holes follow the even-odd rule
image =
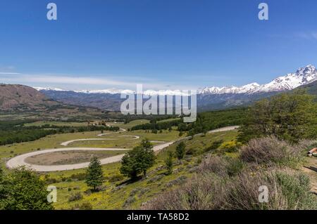
[[[228,131],[226,133],[210,133],[204,137],[195,137],[193,140],[186,140],[187,150],[189,147],[203,150],[215,140],[223,139],[229,141],[235,138],[236,135],[237,131]],[[160,192],[173,189],[173,187],[182,184],[184,180],[181,180],[181,178],[192,176],[190,170],[201,161],[201,154],[187,156],[183,162],[175,160],[173,174],[166,176],[164,175],[166,172],[164,160],[169,150],[175,150],[175,145],[170,145],[166,150],[159,152],[156,164],[149,170],[148,177],[135,183],[125,184],[124,182],[128,178],[109,182],[109,178],[120,176],[120,163],[104,165],[104,176],[107,179],[104,183],[104,190],[92,194],[85,193],[89,188],[84,180],[68,180],[72,174],[84,173],[84,169],[49,173],[50,178],[58,180],[58,183],[53,184],[58,187],[56,209],[70,209],[75,204],[82,204],[83,202],[91,203],[94,209],[139,208],[143,202],[147,202]],[[66,179],[66,181],[61,181],[61,178]],[[70,191],[68,190],[69,187],[71,188]],[[81,192],[84,198],[80,201],[68,202],[68,197],[75,192]],[[130,203],[125,204],[127,201]]]

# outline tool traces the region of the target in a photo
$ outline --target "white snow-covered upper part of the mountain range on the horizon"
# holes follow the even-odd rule
[[[273,79],[273,81],[268,84],[257,84],[256,82],[247,84],[244,86],[225,86],[225,87],[206,87],[200,88],[197,93],[201,95],[221,95],[221,94],[255,94],[255,93],[271,93],[271,92],[280,92],[287,91],[298,86],[309,84],[317,80],[317,70],[313,65],[307,65],[306,67],[301,67],[297,72],[286,74],[285,76],[278,77]],[[42,88],[34,87],[38,91],[68,91],[61,88]],[[116,89],[108,88],[104,90],[80,90],[73,91],[75,93],[109,93],[109,94],[134,94],[135,91],[128,89]],[[144,95],[182,95],[180,91],[144,91]]]

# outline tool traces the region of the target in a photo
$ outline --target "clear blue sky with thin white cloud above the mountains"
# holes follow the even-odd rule
[[[58,20],[46,19],[46,4]],[[258,19],[258,5],[269,20]],[[316,0],[0,1],[0,82],[68,89],[266,83],[317,65]]]

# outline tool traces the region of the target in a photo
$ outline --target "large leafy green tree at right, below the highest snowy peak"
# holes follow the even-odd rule
[[[292,142],[310,138],[315,134],[312,127],[316,129],[315,112],[313,97],[303,91],[260,100],[250,108],[238,140],[245,143],[251,138],[268,135]]]

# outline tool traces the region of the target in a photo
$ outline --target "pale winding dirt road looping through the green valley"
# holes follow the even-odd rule
[[[237,128],[239,128],[239,126],[228,126],[228,127],[224,127],[224,128],[221,128],[221,129],[215,129],[215,130],[209,131],[209,133],[220,132],[220,131],[231,131],[231,130],[234,130],[234,129],[237,129]],[[108,133],[106,133],[106,134],[108,134]],[[197,135],[200,135],[200,134],[197,134]],[[123,136],[123,137],[128,137],[128,136]],[[134,137],[136,137],[136,136],[134,136]],[[139,137],[139,136],[137,136],[137,137]],[[186,137],[186,138],[190,138],[190,137]],[[182,138],[182,139],[186,139],[186,138]],[[77,139],[77,140],[106,140],[106,139],[105,138],[86,138],[86,139]],[[64,143],[64,145],[68,145],[69,143],[72,143],[74,141],[76,141],[76,140],[67,141],[67,142]],[[168,143],[163,143],[161,145],[155,145],[153,147],[153,150],[154,150],[154,152],[159,151],[159,150],[163,150],[164,148],[168,147],[169,145],[172,145],[173,143],[175,143],[176,141],[178,141],[178,140],[171,141],[171,142],[168,142]],[[152,143],[162,143],[162,141],[151,141],[151,142]],[[61,144],[63,144],[63,143],[61,143]],[[37,151],[37,152],[29,152],[29,153],[26,153],[26,154],[21,154],[18,157],[14,157],[14,158],[10,159],[6,163],[6,166],[8,167],[8,169],[13,169],[13,168],[16,168],[18,166],[26,166],[26,167],[28,167],[30,169],[33,169],[34,171],[37,171],[37,172],[67,171],[67,170],[82,169],[82,168],[87,167],[89,165],[89,162],[84,162],[84,163],[80,163],[80,164],[66,164],[66,165],[52,165],[52,166],[42,166],[42,165],[28,164],[27,162],[25,162],[25,159],[27,157],[32,157],[32,156],[35,156],[35,155],[38,155],[38,154],[44,154],[44,153],[48,153],[48,152],[74,151],[74,150],[120,151],[120,150],[130,150],[130,149],[68,147],[68,148],[59,148],[59,149],[51,149],[51,150],[42,150],[42,151]],[[124,154],[119,154],[119,155],[114,156],[114,157],[108,157],[108,158],[101,159],[100,162],[101,162],[101,164],[111,164],[113,162],[120,162],[120,160],[122,159],[123,156],[124,156]]]

